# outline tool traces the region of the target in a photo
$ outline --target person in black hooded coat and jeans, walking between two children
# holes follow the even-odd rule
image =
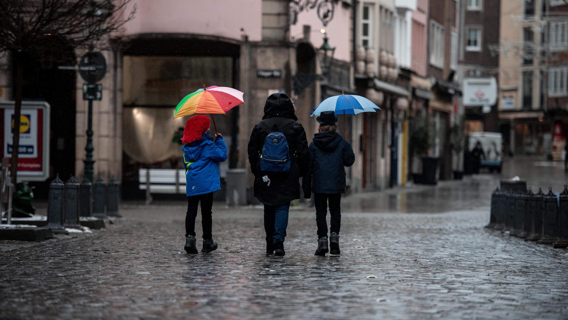
[[[306,170],[308,143],[306,132],[294,113],[294,104],[285,93],[273,93],[264,105],[264,116],[252,129],[248,143],[250,170],[254,174],[254,196],[264,203],[266,254],[285,255],[284,238],[290,202],[300,198],[299,178]],[[290,170],[261,171],[261,154],[271,132],[282,132],[289,147]]]

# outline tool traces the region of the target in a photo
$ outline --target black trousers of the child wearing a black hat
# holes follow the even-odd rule
[[[327,206],[329,203],[330,232],[339,233],[341,228],[341,194],[314,194],[318,238],[327,236]]]

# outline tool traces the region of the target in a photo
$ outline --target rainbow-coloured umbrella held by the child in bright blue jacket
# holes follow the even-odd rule
[[[174,118],[189,116],[194,113],[210,113],[216,133],[217,125],[215,124],[213,114],[225,114],[234,106],[242,103],[245,103],[243,101],[243,92],[229,87],[212,85],[211,87],[198,89],[198,91],[190,93],[179,101]]]

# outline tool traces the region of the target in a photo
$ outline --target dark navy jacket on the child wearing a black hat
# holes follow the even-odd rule
[[[345,167],[355,155],[349,142],[335,131],[316,133],[309,148],[308,172],[302,180],[304,198],[315,194],[344,194]]]

